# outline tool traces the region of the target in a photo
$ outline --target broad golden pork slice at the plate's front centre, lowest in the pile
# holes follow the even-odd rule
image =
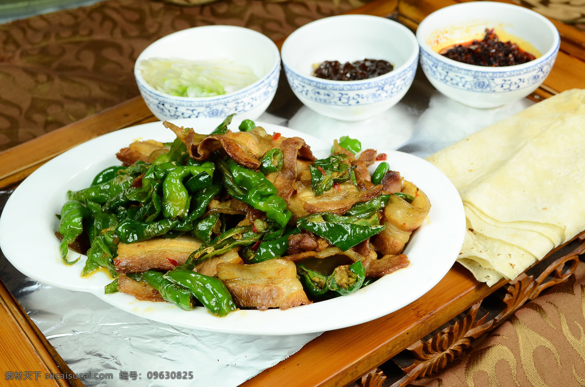
[[[276,259],[252,265],[223,262],[218,264],[217,271],[238,307],[284,310],[311,303],[292,261]]]

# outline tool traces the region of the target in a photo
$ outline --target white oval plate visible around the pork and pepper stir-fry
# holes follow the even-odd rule
[[[209,133],[217,120],[177,120]],[[237,128],[239,122],[231,127]],[[268,133],[305,139],[316,157],[328,156],[331,144],[286,127],[258,123]],[[201,129],[205,128],[205,129]],[[75,265],[65,265],[59,254],[56,214],[68,190],[91,184],[99,171],[119,165],[115,153],[137,139],[172,141],[174,133],[160,122],[118,130],[87,141],[44,164],[16,188],[0,219],[0,247],[23,274],[58,288],[90,292],[126,312],[174,326],[236,334],[288,335],[314,333],[368,322],[394,312],[435,286],[452,267],[463,244],[465,216],[453,184],[427,161],[398,151],[386,151],[391,170],[400,171],[428,195],[432,203],[424,224],[412,234],[404,253],[411,264],[360,289],[352,295],[288,310],[237,310],[215,317],[204,307],[185,311],[170,303],[136,300],[123,293],[104,294],[111,282],[105,272],[81,277],[85,255]],[[380,150],[378,150],[380,151]],[[383,152],[383,151],[380,151]],[[375,165],[373,166],[375,167]],[[371,167],[371,168],[373,168]],[[69,259],[75,258],[70,252]],[[63,300],[67,302],[67,300]]]

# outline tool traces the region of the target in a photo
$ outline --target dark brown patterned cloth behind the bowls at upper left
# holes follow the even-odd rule
[[[139,95],[134,63],[160,37],[234,25],[277,40],[364,2],[109,0],[0,25],[0,151]]]

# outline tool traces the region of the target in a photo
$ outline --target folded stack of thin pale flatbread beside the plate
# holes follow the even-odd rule
[[[491,286],[585,229],[585,90],[536,103],[427,158],[455,184],[459,261]]]

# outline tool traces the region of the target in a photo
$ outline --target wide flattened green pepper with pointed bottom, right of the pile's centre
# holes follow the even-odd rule
[[[312,231],[330,243],[346,251],[380,233],[386,226],[380,225],[378,214],[370,217],[343,216],[324,212],[308,215],[298,220],[300,229]]]

